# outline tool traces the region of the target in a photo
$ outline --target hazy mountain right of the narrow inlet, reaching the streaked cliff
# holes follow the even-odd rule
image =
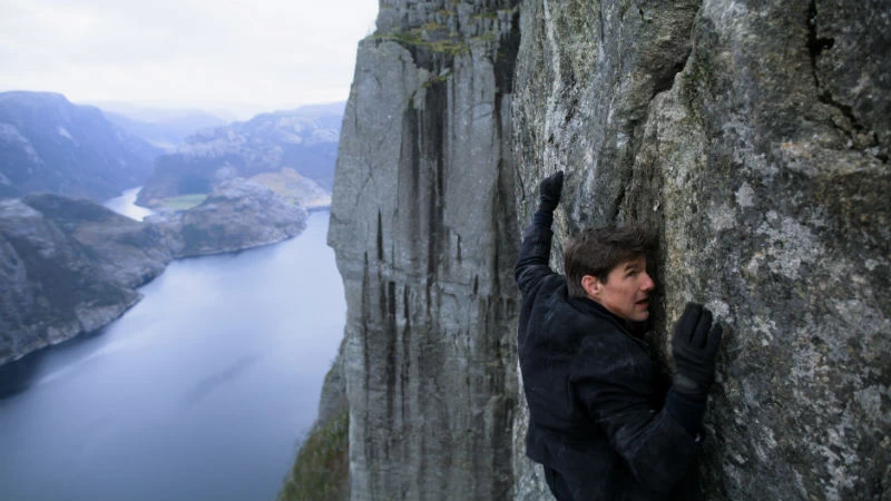
[[[314,105],[202,130],[156,160],[137,203],[150,207],[164,198],[209,193],[236,177],[285,168],[330,191],[343,110],[343,102]]]

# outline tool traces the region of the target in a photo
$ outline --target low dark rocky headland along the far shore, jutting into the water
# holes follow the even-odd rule
[[[198,207],[150,220],[59,195],[0,200],[0,364],[117,320],[174,258],[300,234],[306,210],[237,180]]]

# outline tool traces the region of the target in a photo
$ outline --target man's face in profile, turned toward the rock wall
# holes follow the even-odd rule
[[[609,272],[605,283],[597,283],[589,295],[605,308],[633,322],[649,317],[649,293],[656,284],[647,274],[644,256],[619,264]]]

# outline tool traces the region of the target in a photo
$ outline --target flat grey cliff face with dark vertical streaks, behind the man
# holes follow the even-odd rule
[[[382,0],[329,242],[343,275],[353,500],[512,489],[517,0]]]

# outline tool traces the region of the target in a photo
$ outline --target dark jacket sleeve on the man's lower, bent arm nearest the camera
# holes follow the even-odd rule
[[[570,384],[638,483],[669,491],[694,464],[696,439],[667,409],[652,409],[650,370],[643,367],[648,360],[629,355],[627,344],[610,343],[609,337],[585,340]]]

